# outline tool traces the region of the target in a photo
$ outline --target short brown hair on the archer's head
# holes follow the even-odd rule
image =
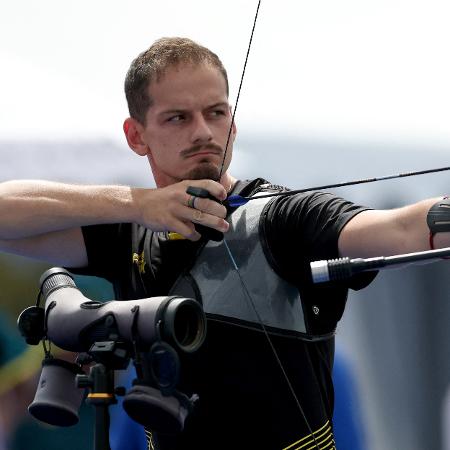
[[[217,68],[225,78],[228,95],[227,72],[215,53],[187,38],[161,38],[139,54],[128,69],[125,95],[131,117],[145,123],[148,108],[152,105],[148,86],[152,81],[158,81],[169,67],[180,63],[206,63]]]

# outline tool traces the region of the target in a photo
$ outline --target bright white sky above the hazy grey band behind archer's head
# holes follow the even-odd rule
[[[257,1],[15,0],[0,15],[0,139],[123,142],[123,79],[153,40],[222,58],[235,103]],[[263,0],[241,133],[450,144],[448,0]],[[264,131],[262,131],[264,130]]]

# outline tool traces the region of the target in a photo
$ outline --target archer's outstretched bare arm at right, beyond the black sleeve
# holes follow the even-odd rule
[[[370,258],[430,250],[427,215],[438,202],[442,197],[398,209],[361,212],[339,236],[340,256]],[[450,201],[445,202],[450,211]],[[434,248],[450,247],[450,220],[447,229],[434,235]]]

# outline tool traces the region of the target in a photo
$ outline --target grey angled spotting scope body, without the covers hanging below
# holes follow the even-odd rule
[[[206,318],[193,299],[169,296],[95,302],[76,287],[71,275],[54,268],[41,277],[47,338],[73,352],[116,337],[143,348],[163,340],[184,352],[195,352],[206,337]]]

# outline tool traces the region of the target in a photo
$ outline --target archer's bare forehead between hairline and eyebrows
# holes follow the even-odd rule
[[[148,92],[154,107],[183,104],[227,102],[227,87],[222,73],[210,64],[179,64],[169,67]]]

